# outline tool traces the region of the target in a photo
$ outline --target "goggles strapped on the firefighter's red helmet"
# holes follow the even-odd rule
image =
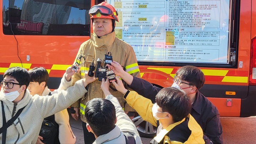
[[[101,15],[103,16],[113,16],[114,20],[118,21],[117,17],[118,16],[118,13],[117,11],[116,12],[113,12],[110,8],[106,7],[106,6],[103,6],[103,5],[95,5],[95,6],[92,6],[90,11],[89,11],[89,14],[90,15],[96,15],[98,13],[98,11],[100,12]]]

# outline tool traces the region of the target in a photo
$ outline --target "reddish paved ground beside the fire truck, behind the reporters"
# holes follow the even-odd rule
[[[69,110],[68,110],[69,111]],[[84,144],[82,121],[75,121],[70,115],[70,125],[76,136],[76,144]],[[256,117],[230,118],[221,117],[224,144],[256,144]],[[151,139],[142,138],[143,144]]]

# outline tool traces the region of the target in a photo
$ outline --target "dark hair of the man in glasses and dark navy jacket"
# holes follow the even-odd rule
[[[176,76],[181,80],[187,81],[190,85],[196,86],[197,89],[201,89],[204,85],[204,74],[196,66],[182,66],[177,70]]]

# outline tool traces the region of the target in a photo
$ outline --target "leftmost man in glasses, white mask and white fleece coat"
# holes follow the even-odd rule
[[[87,84],[96,80],[86,74],[71,86],[74,73],[71,67],[66,70],[58,94],[32,97],[27,90],[28,71],[19,66],[7,69],[0,82],[0,143],[35,144],[43,119],[68,108],[87,92]]]

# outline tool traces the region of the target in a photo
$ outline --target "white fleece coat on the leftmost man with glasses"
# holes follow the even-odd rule
[[[14,104],[6,100],[3,96],[3,90],[0,92],[0,100],[4,103],[6,121],[11,119],[12,111],[15,113],[26,106],[20,116],[7,128],[7,144],[31,144],[36,143],[43,119],[57,112],[68,108],[72,103],[85,95],[85,89],[82,80],[69,87],[66,91],[61,90],[58,94],[52,96],[31,96],[27,90],[20,102]],[[0,106],[0,117],[2,117],[2,107]],[[0,127],[3,120],[0,118]],[[0,143],[2,134],[0,134]]]

